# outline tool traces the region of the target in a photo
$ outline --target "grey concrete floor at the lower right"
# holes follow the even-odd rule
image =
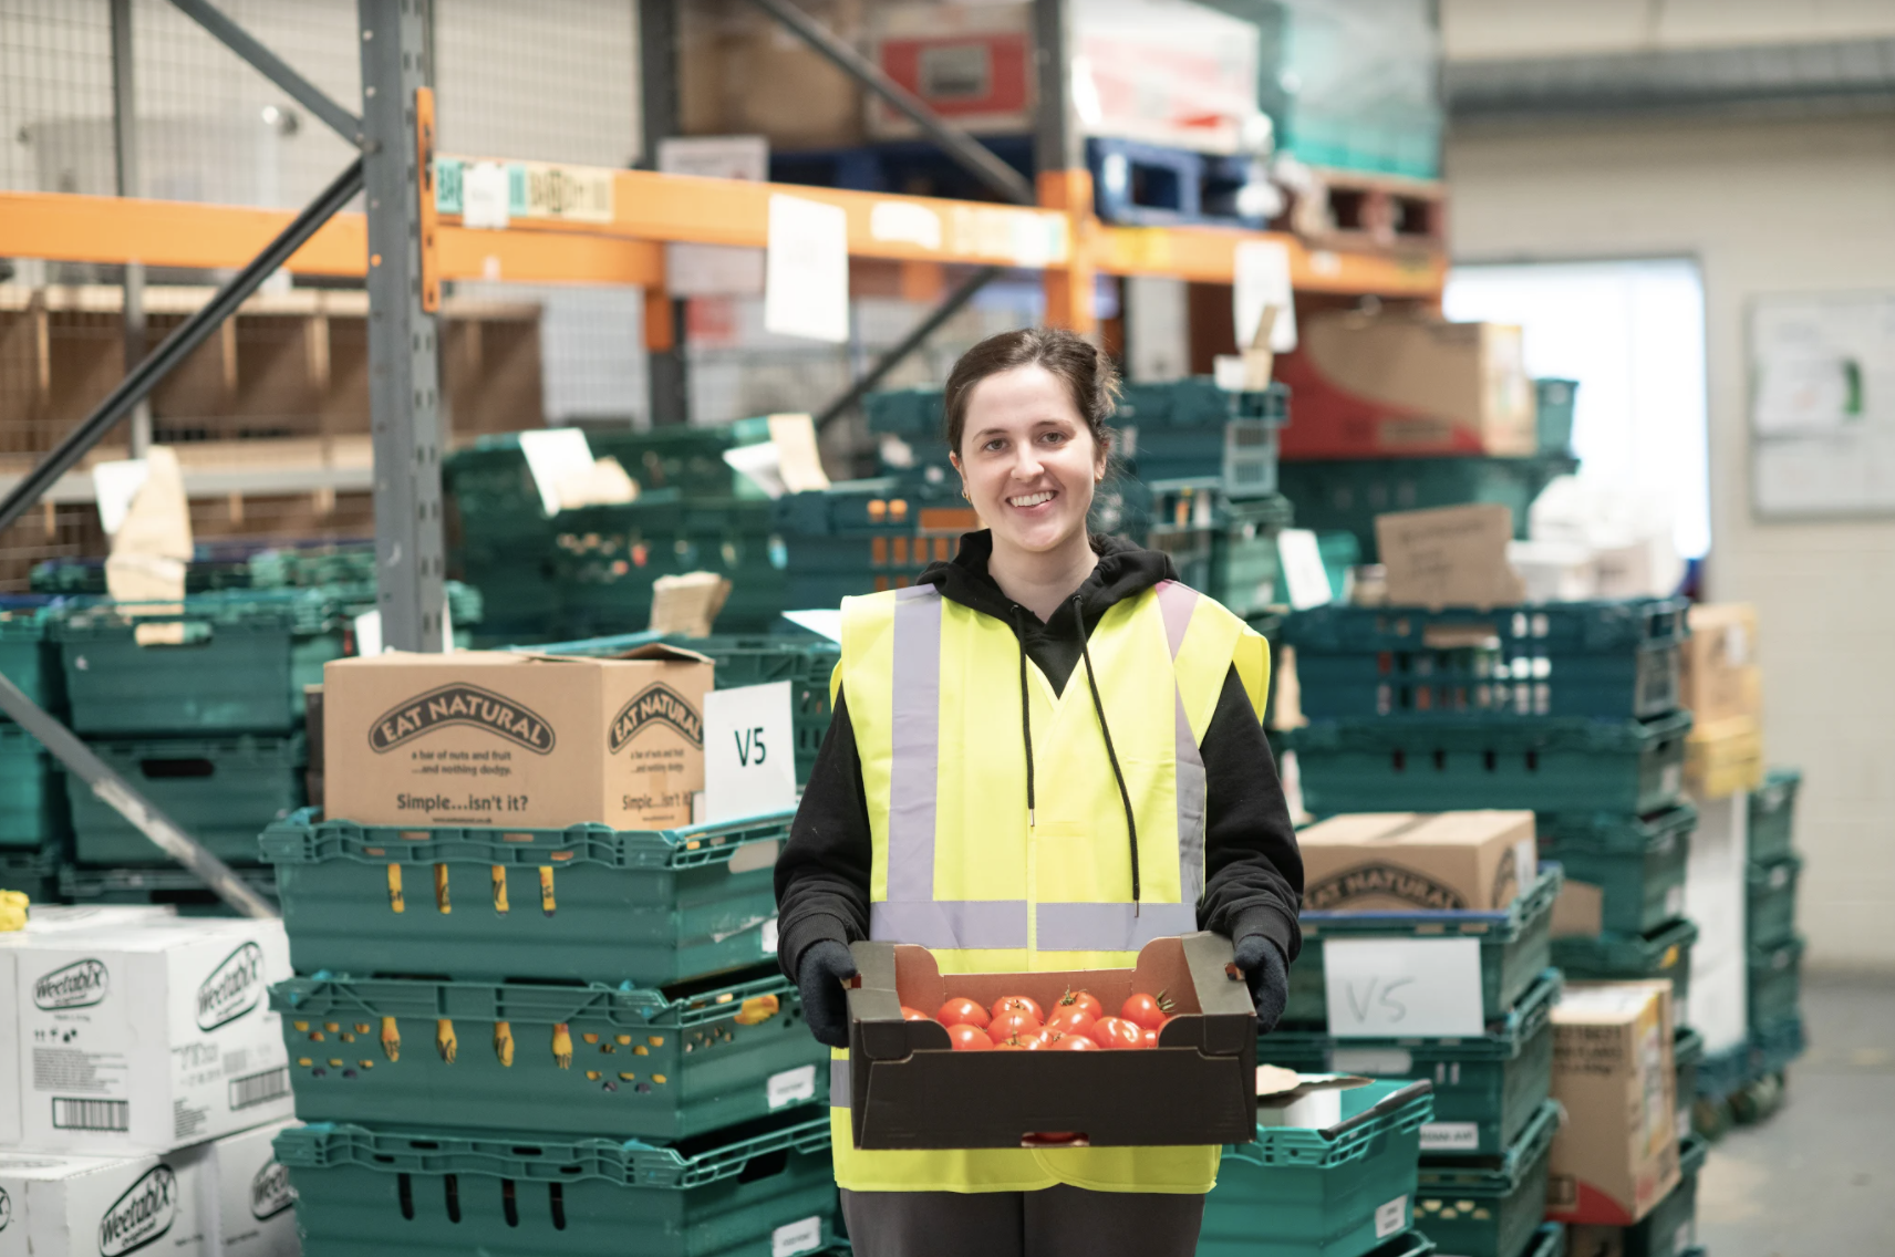
[[[1895,975],[1812,973],[1783,1107],[1698,1179],[1707,1257],[1895,1255]]]

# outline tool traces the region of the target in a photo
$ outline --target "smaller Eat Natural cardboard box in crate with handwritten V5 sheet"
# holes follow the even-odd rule
[[[1296,844],[1309,912],[1505,911],[1539,876],[1533,812],[1359,812]]]

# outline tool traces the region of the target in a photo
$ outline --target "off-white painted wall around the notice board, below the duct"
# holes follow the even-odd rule
[[[1804,770],[1810,960],[1895,967],[1895,519],[1751,519],[1743,356],[1760,293],[1895,290],[1895,121],[1461,131],[1446,167],[1457,259],[1702,261],[1707,594],[1759,608],[1768,755]]]

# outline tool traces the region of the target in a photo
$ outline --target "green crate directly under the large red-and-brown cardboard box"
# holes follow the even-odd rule
[[[1296,504],[1304,528],[1349,532],[1363,562],[1381,562],[1376,515],[1497,502],[1527,534],[1527,509],[1554,479],[1579,468],[1567,454],[1527,458],[1317,458],[1277,468],[1277,492]]]

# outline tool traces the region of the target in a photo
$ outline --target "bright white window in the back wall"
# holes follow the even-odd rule
[[[1690,259],[1453,267],[1453,320],[1520,324],[1527,373],[1579,381],[1579,475],[1668,502],[1677,551],[1711,547],[1704,276]]]

